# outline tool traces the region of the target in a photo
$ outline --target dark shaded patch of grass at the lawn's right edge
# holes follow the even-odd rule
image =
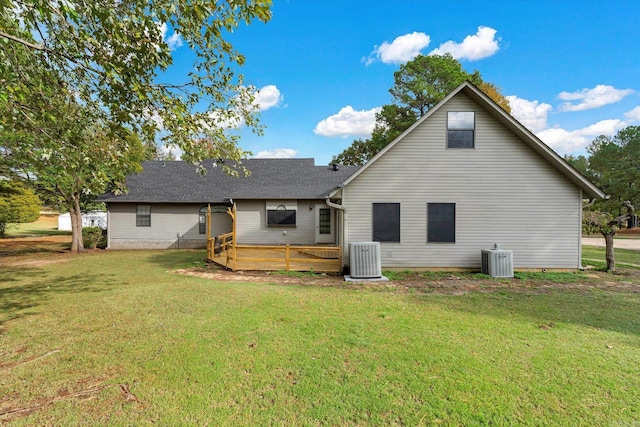
[[[430,298],[429,303],[480,317],[512,320],[519,316],[543,329],[544,325],[571,323],[640,336],[640,294],[637,292],[557,287],[544,291],[504,290]]]

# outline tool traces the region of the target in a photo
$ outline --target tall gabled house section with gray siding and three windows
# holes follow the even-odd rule
[[[517,269],[576,269],[583,199],[605,194],[466,82],[330,196],[341,243],[380,241],[386,268],[480,269],[499,243]]]

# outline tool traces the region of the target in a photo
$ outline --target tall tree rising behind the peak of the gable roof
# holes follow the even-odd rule
[[[358,139],[332,163],[362,165],[386,147],[398,135],[424,116],[464,81],[477,85],[500,107],[511,112],[509,102],[497,86],[482,80],[477,70],[468,73],[450,54],[419,55],[400,66],[393,75],[393,104],[385,105],[376,114],[376,125],[369,139]]]

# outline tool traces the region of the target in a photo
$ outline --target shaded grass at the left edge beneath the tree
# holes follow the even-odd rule
[[[102,292],[108,290],[112,282],[112,275],[105,274],[72,274],[42,278],[43,273],[42,269],[32,267],[9,267],[2,270],[0,333],[5,322],[38,314],[37,307],[53,295]]]

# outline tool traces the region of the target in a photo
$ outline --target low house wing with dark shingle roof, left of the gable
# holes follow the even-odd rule
[[[204,163],[204,175],[187,162],[144,162],[143,172],[127,177],[126,194],[100,198],[107,204],[107,247],[206,247],[207,207],[214,237],[231,231],[227,208],[233,203],[240,244],[336,243],[336,209],[326,196],[356,167],[316,166],[313,159],[246,159],[242,165],[250,176],[229,176],[215,161]]]

